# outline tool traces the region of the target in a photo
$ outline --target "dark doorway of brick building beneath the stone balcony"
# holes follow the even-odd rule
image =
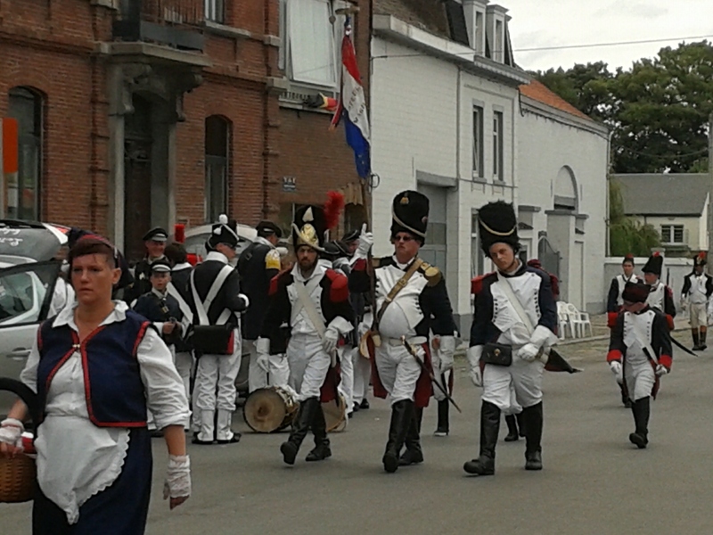
[[[129,262],[143,258],[141,238],[152,222],[152,103],[134,95],[134,110],[124,125],[124,254]]]

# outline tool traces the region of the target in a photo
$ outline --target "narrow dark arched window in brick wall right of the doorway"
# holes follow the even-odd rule
[[[218,115],[206,119],[206,221],[215,222],[226,213],[228,201],[228,169],[230,122]]]

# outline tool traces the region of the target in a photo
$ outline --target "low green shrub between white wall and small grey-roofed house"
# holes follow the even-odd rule
[[[654,247],[660,247],[659,233],[652,225],[642,225],[624,213],[624,197],[618,181],[609,179],[609,243],[610,254],[624,256],[649,256]]]

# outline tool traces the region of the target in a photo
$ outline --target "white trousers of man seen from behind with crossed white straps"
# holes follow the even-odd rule
[[[237,334],[237,333],[236,333]],[[240,372],[241,342],[235,336],[232,355],[201,355],[195,374],[195,407],[200,411],[199,440],[213,440],[215,411],[218,411],[217,440],[230,440],[230,421],[235,410],[235,379]],[[217,395],[216,395],[217,390]]]

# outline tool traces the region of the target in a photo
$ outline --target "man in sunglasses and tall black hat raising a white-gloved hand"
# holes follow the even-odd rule
[[[421,420],[432,393],[429,333],[438,337],[439,375],[453,368],[453,310],[438,268],[418,258],[426,240],[429,200],[419,192],[398,193],[391,207],[394,254],[366,259],[372,233],[359,238],[357,261],[349,276],[352,292],[369,292],[375,277],[376,320],[373,341],[374,396],[391,401],[391,424],[381,462],[389,473],[423,462]],[[378,334],[378,337],[375,335]],[[408,347],[404,343],[404,339]],[[406,451],[401,455],[401,449]]]

